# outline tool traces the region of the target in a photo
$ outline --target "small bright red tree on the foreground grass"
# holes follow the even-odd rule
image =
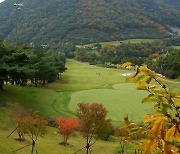
[[[58,119],[57,120],[59,132],[63,135],[63,145],[67,145],[68,138],[72,135],[74,129],[78,127],[78,121],[73,117],[69,119]]]

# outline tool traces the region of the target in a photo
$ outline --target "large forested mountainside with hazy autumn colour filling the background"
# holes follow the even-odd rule
[[[22,3],[18,10],[14,3]],[[85,44],[127,38],[162,38],[180,27],[179,0],[5,0],[0,39]]]

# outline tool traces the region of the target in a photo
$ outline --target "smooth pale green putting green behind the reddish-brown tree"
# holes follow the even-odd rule
[[[131,120],[139,122],[143,115],[150,113],[153,104],[142,104],[141,101],[147,96],[147,92],[138,91],[133,83],[113,85],[113,89],[92,89],[75,92],[71,95],[69,109],[76,111],[77,104],[102,103],[108,110],[108,118],[115,121],[123,121],[128,115]]]

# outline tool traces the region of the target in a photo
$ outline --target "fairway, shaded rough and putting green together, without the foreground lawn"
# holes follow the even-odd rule
[[[146,93],[135,90],[135,85],[124,83],[125,77],[121,74],[132,71],[101,68],[74,60],[68,61],[67,68],[63,79],[48,87],[5,85],[5,90],[0,94],[0,102],[6,103],[5,108],[0,108],[2,117],[9,119],[9,114],[13,116],[16,111],[28,108],[40,111],[41,115],[48,118],[67,117],[76,112],[77,104],[82,101],[104,104],[109,111],[109,118],[115,121],[122,121],[127,114],[133,120],[141,121],[142,115],[148,110],[149,105],[141,104]],[[133,96],[128,97],[132,93],[135,99]],[[133,107],[138,107],[136,103],[141,108],[136,110]],[[119,114],[121,107],[127,110]],[[9,125],[11,122],[7,119],[1,120]]]

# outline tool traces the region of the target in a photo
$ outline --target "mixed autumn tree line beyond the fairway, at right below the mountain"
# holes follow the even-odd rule
[[[176,78],[180,75],[180,50],[170,44],[174,39],[147,43],[121,43],[118,46],[93,44],[79,47],[73,52],[74,58],[103,67],[117,68],[125,62],[133,65],[147,65],[152,70],[166,77]],[[175,39],[176,43],[179,41]],[[172,44],[171,44],[172,45]]]

